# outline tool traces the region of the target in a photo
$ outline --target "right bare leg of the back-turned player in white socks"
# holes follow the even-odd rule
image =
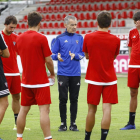
[[[40,126],[43,131],[44,137],[51,136],[50,119],[49,119],[50,105],[40,105],[39,110],[40,110]]]

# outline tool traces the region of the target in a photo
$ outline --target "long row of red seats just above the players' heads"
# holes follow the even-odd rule
[[[123,10],[123,9],[140,9],[140,2],[125,2],[125,3],[103,3],[101,4],[88,4],[88,5],[71,5],[71,6],[49,6],[38,7],[37,11],[40,13],[58,13],[58,12],[81,12],[81,11],[101,11],[101,10]]]

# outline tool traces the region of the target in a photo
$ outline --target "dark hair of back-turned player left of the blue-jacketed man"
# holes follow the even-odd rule
[[[28,25],[29,27],[36,27],[42,20],[42,16],[38,12],[31,12],[28,14]]]

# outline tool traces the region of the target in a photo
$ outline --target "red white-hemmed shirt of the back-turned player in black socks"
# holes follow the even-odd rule
[[[119,54],[120,39],[108,32],[96,31],[85,35],[83,52],[88,53],[89,63],[85,82],[94,85],[117,83],[114,57]]]

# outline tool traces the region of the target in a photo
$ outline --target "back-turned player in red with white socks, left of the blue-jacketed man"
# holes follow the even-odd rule
[[[38,33],[41,19],[42,16],[39,13],[29,13],[29,29],[17,37],[17,52],[21,57],[23,68],[21,109],[17,118],[17,140],[22,140],[26,115],[31,105],[36,104],[40,110],[40,125],[44,139],[52,140],[49,120],[50,83],[46,73],[46,65],[50,71],[49,78],[53,81],[55,73],[48,40],[45,35]]]

